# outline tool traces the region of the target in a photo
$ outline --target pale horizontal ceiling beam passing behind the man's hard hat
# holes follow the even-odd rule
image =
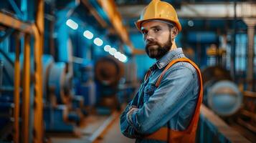
[[[179,19],[234,19],[234,2],[222,3],[181,3],[181,9],[176,9]],[[146,5],[118,6],[118,11],[124,18],[139,18]],[[237,2],[236,17],[256,18],[255,2]]]

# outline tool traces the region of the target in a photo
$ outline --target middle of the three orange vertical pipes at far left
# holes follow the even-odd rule
[[[29,96],[30,96],[30,35],[25,34],[23,93],[22,93],[22,142],[29,142]]]

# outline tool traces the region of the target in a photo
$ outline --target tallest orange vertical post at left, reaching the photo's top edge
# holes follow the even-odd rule
[[[44,1],[39,0],[37,5],[36,24],[34,30],[34,142],[43,140],[43,94],[42,94],[42,53],[44,43]]]

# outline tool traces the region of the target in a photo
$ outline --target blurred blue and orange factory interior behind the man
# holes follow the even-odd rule
[[[1,0],[0,142],[134,142],[118,116],[155,62],[151,0]],[[204,82],[196,142],[256,142],[256,1],[166,0]]]

